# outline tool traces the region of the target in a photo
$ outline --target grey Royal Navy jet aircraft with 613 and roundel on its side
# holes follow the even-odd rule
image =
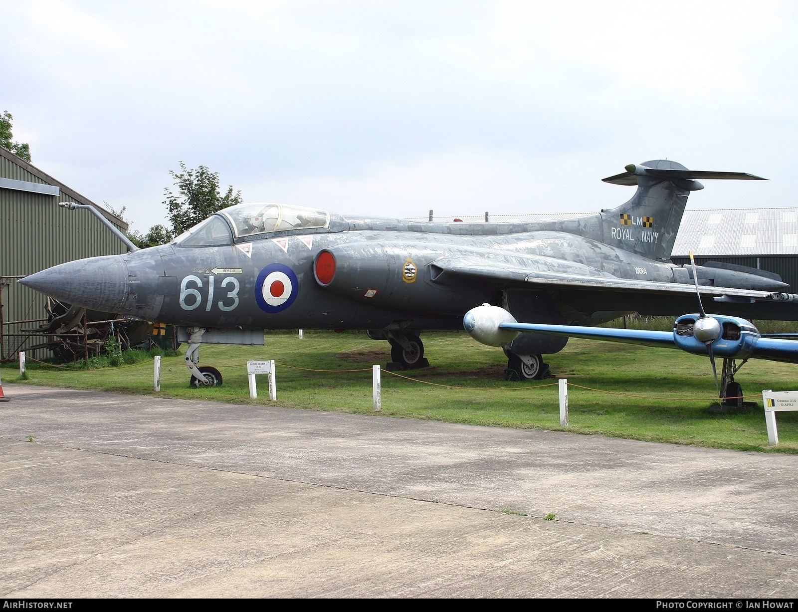
[[[518,320],[595,326],[637,311],[681,314],[692,271],[668,262],[697,179],[667,160],[630,164],[608,183],[637,185],[612,210],[535,223],[417,223],[342,216],[279,203],[211,215],[161,247],[83,259],[20,282],[63,302],[180,326],[194,385],[222,379],[198,368],[201,343],[263,344],[264,329],[369,330],[393,361],[426,364],[419,334],[455,330],[482,303]],[[798,296],[775,275],[701,267],[718,314],[798,319]],[[504,345],[509,367],[539,377],[544,353],[567,338],[523,333]]]

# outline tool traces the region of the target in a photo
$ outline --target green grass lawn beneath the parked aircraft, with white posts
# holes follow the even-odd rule
[[[551,372],[582,385],[615,395],[571,386],[570,422],[559,426],[555,380],[507,382],[506,359],[465,333],[424,334],[428,369],[402,372],[419,381],[468,389],[426,385],[382,374],[382,413],[392,417],[435,419],[453,423],[544,428],[602,434],[675,444],[798,453],[798,413],[779,413],[780,444],[768,446],[760,392],[795,389],[795,365],[751,360],[737,375],[746,394],[757,397],[758,409],[745,415],[715,415],[717,403],[712,369],[706,357],[673,349],[571,339],[560,353],[547,357]],[[371,368],[390,360],[387,342],[365,334],[305,332],[267,334],[266,346],[207,345],[200,365],[221,370],[224,385],[192,389],[182,356],[164,357],[162,397],[202,398],[235,404],[268,405],[267,378],[259,377],[259,397],[249,399],[248,359],[277,361],[276,405],[298,409],[372,413]],[[185,348],[185,347],[184,347]],[[28,381],[18,379],[13,365],[4,366],[2,380],[71,389],[97,389],[151,394],[152,360],[119,369],[55,369],[28,361]],[[287,366],[294,366],[293,368]],[[298,368],[331,370],[311,372]],[[720,368],[720,361],[718,361]],[[347,369],[365,369],[345,372]],[[542,386],[551,385],[551,386]],[[265,396],[265,398],[264,398]],[[632,397],[646,396],[646,397]],[[686,399],[682,399],[686,398]]]

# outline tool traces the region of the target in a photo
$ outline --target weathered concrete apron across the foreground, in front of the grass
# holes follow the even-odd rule
[[[798,457],[4,386],[6,597],[798,594]]]

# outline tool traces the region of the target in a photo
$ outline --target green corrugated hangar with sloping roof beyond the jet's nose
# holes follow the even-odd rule
[[[41,325],[46,298],[17,278],[75,259],[128,251],[90,211],[69,211],[59,202],[92,206],[120,231],[128,229],[116,215],[0,147],[0,361],[46,340],[21,332]]]

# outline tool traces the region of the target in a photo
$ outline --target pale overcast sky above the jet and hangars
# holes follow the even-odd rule
[[[245,201],[425,216],[597,211],[623,166],[691,208],[795,206],[795,2],[0,0],[0,111],[133,229],[184,161]]]

